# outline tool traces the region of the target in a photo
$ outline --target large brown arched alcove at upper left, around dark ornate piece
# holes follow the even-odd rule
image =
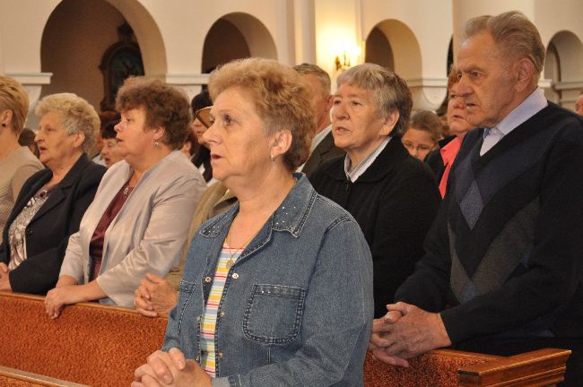
[[[101,59],[120,41],[118,28],[124,24],[134,31],[146,75],[162,77],[166,56],[161,33],[144,5],[137,0],[63,0],[42,34],[41,71],[53,76],[40,96],[74,92],[99,111],[105,96]]]

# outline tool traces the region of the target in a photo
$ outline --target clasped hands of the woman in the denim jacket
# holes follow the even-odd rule
[[[196,361],[187,359],[178,348],[158,350],[135,370],[132,387],[201,386],[211,387],[211,378]]]

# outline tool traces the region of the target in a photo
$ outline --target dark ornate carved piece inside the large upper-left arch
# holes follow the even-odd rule
[[[129,24],[117,28],[119,41],[109,47],[101,57],[105,96],[100,103],[101,111],[115,110],[119,86],[132,75],[144,75],[144,63],[140,47],[132,39],[134,31]]]

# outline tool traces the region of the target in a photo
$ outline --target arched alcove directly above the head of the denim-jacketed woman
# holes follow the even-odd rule
[[[262,22],[248,13],[228,13],[213,23],[204,39],[203,70],[248,56],[277,59],[274,39]]]

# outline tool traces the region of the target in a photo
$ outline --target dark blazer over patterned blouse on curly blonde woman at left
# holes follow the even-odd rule
[[[40,207],[26,228],[27,259],[9,274],[14,292],[44,295],[55,287],[69,236],[79,230],[79,223],[93,201],[105,170],[83,154],[50,193],[47,202]],[[30,198],[52,176],[52,171],[46,168],[30,176],[22,186],[4,228],[0,262],[8,264],[10,261],[10,225]]]

